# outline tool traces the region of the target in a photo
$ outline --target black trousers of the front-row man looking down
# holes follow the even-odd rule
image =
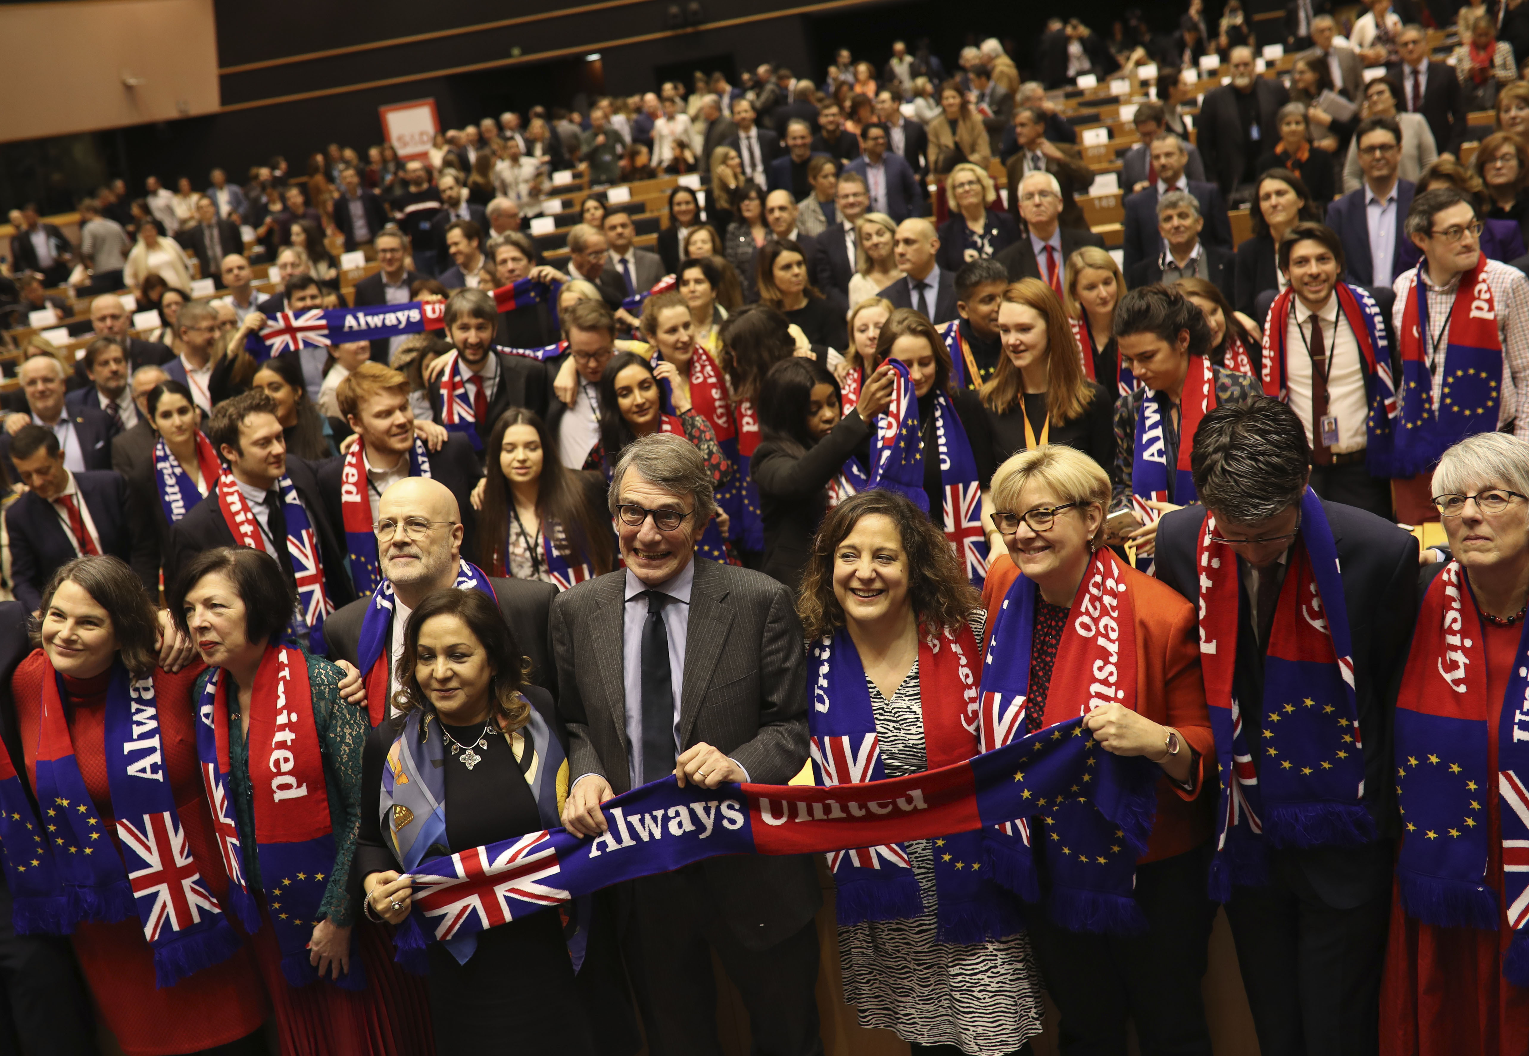
[[[1226,917],[1263,1056],[1373,1056],[1390,925],[1390,844],[1344,854],[1344,891],[1326,897],[1272,851],[1271,883],[1234,888]],[[1359,886],[1362,874],[1373,882]],[[1333,905],[1333,903],[1339,905]]]

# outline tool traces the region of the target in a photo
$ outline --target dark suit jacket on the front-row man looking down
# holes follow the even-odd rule
[[[1326,500],[1323,510],[1338,546],[1349,631],[1353,637],[1355,695],[1359,726],[1364,729],[1364,802],[1375,816],[1381,841],[1388,841],[1399,833],[1396,782],[1391,773],[1393,720],[1407,642],[1417,614],[1417,543],[1390,521],[1365,510]],[[1193,604],[1199,604],[1196,547],[1203,521],[1205,507],[1188,506],[1165,513],[1157,529],[1157,579]],[[1238,572],[1240,565],[1238,561]],[[1251,732],[1257,737],[1258,720],[1264,714],[1264,649],[1254,640],[1252,605],[1246,591],[1240,594],[1232,689],[1245,721],[1252,723]],[[1257,747],[1254,758],[1258,758]],[[1375,851],[1362,847],[1274,853],[1286,856],[1286,862],[1306,874],[1316,894],[1338,909],[1355,908],[1378,892],[1388,891],[1391,885],[1388,848],[1379,870],[1368,862]]]

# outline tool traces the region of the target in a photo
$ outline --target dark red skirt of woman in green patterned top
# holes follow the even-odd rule
[[[255,961],[275,1009],[281,1056],[431,1056],[430,993],[425,980],[393,963],[393,943],[382,928],[358,918],[356,954],[367,973],[364,990],[329,983],[292,986],[281,975],[281,947],[271,911],[260,900],[261,928],[254,935]]]

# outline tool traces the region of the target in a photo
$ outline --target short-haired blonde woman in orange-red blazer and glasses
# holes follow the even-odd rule
[[[1110,481],[1081,452],[1015,454],[994,474],[992,500],[1009,561],[983,591],[983,747],[1083,714],[1101,749],[1162,770],[1145,847],[1076,804],[1031,822],[1040,905],[1026,917],[1061,1010],[1061,1051],[1124,1053],[1130,1019],[1142,1051],[1208,1054],[1214,824],[1203,790],[1214,789],[1216,741],[1194,608],[1104,546]]]

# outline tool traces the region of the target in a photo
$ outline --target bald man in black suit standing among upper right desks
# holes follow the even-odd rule
[[[1290,93],[1280,81],[1254,73],[1252,49],[1231,50],[1232,83],[1205,93],[1199,130],[1205,174],[1231,197],[1257,179],[1258,156],[1278,139],[1280,107]]]

